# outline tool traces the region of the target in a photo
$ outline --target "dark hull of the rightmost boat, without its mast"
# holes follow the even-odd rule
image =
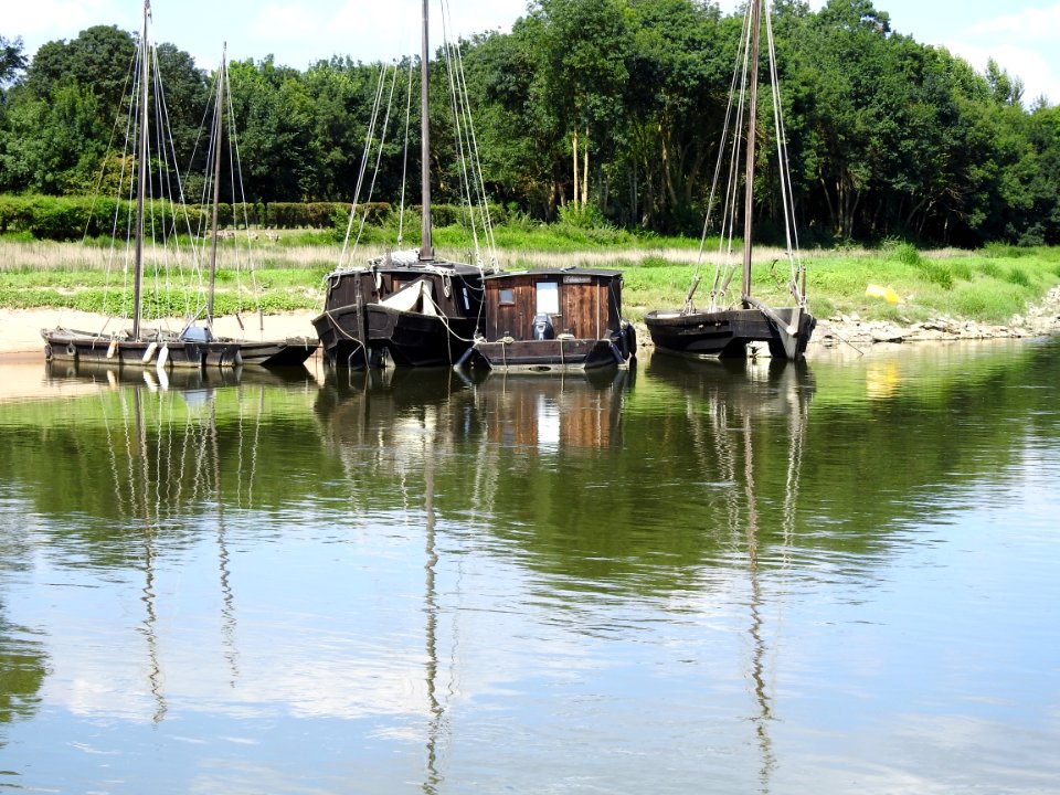
[[[816,318],[797,307],[770,312],[775,317],[757,308],[688,314],[657,310],[645,315],[644,322],[656,350],[740,359],[748,356],[749,343],[765,342],[774,358],[801,360],[817,325]]]

